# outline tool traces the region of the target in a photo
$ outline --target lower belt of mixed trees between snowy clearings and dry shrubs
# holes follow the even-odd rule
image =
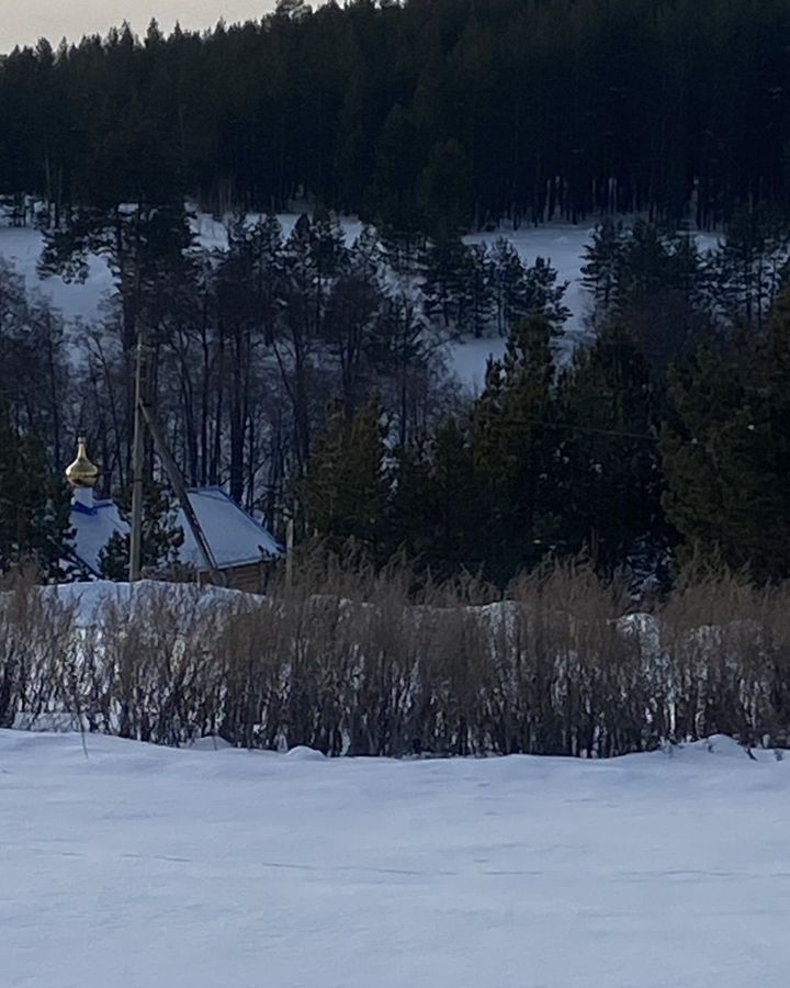
[[[287,235],[237,216],[208,249],[183,210],[119,222],[50,231],[40,262],[79,277],[89,251],[104,257],[116,291],[101,319],[65,324],[0,268],[4,560],[52,569],[47,526],[65,536],[67,519],[63,492],[42,492],[78,429],[123,501],[143,334],[188,482],[226,484],[281,534],[293,517],[338,552],[501,584],[579,553],[654,587],[682,562],[788,575],[790,229],[774,211],[736,217],[706,254],[646,221],[601,223],[588,340],[571,355],[566,285],[505,238],[415,254],[372,227],[349,242],[319,212]],[[504,357],[464,393],[447,341],[499,334]]]

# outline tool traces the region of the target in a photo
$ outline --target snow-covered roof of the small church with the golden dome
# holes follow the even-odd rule
[[[227,570],[283,554],[283,548],[274,536],[240,508],[222,487],[200,487],[189,491],[188,496],[218,569]],[[99,575],[101,550],[115,532],[127,535],[128,525],[112,501],[94,501],[90,507],[75,503],[70,521],[75,529],[75,555]],[[181,508],[176,524],[184,534],[179,561],[204,569],[202,553]]]

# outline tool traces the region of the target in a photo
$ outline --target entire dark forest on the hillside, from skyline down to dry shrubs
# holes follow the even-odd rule
[[[78,429],[123,503],[144,340],[187,481],[280,535],[500,585],[579,554],[639,593],[787,577],[789,44],[785,0],[411,0],[15,50],[3,223],[114,292],[67,324],[0,265],[0,564],[58,572]],[[574,349],[567,285],[497,231],[585,216]],[[472,395],[448,344],[486,336]]]

